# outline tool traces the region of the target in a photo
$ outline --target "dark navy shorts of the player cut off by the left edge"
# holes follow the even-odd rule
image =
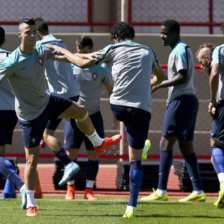
[[[0,146],[12,144],[13,130],[17,121],[14,110],[0,110]]]

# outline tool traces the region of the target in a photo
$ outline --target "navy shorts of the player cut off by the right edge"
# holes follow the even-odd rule
[[[224,100],[216,107],[212,122],[211,138],[224,144]]]

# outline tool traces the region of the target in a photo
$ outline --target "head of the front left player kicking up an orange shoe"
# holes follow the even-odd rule
[[[19,22],[18,36],[25,46],[35,46],[37,41],[37,29],[33,18],[25,18]]]

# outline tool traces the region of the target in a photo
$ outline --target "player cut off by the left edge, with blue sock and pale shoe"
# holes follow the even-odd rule
[[[5,30],[0,27],[0,62],[5,60],[10,54],[9,51],[1,48],[4,42]],[[9,179],[19,190],[22,198],[22,208],[25,208],[25,184],[16,173],[12,163],[4,157],[6,145],[12,144],[13,130],[18,120],[15,112],[15,96],[7,80],[0,86],[0,96],[0,173]]]

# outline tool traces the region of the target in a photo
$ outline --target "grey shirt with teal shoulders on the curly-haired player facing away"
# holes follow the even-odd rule
[[[107,46],[103,53],[102,61],[108,63],[114,80],[110,102],[151,111],[153,51],[147,46],[125,41]]]

